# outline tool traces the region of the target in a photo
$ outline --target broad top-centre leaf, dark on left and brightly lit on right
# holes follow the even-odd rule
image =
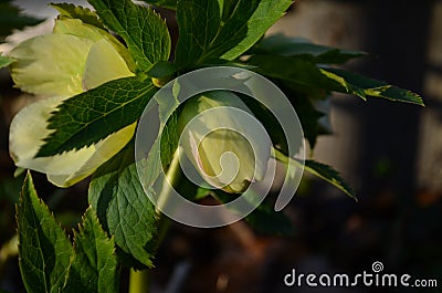
[[[177,63],[193,66],[236,59],[260,40],[291,3],[291,0],[178,1]]]

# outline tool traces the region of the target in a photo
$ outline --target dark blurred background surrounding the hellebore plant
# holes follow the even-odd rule
[[[45,1],[15,3],[50,21],[7,39],[0,51],[50,30],[55,15]],[[277,32],[369,52],[348,67],[417,92],[427,106],[334,96],[335,134],[319,138],[314,157],[339,170],[359,201],[306,178],[284,210],[294,237],[259,234],[244,222],[212,230],[173,223],[156,259],[151,292],[442,292],[442,1],[298,0],[269,33]],[[23,179],[13,177],[8,129],[33,98],[12,88],[7,70],[0,72],[0,291],[23,292],[17,258],[8,250]],[[87,206],[87,182],[56,189],[34,176],[57,220],[74,227]],[[371,272],[375,261],[386,273],[436,279],[439,290],[295,289],[283,282],[292,269],[354,275]],[[123,275],[126,292],[128,274]]]

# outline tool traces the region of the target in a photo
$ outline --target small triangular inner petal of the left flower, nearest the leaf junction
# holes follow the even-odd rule
[[[91,48],[83,74],[83,87],[87,91],[110,80],[133,75],[122,55],[103,39]]]

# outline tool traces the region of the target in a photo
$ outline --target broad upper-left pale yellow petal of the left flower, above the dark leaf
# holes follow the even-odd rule
[[[17,87],[45,96],[83,92],[82,74],[93,41],[75,35],[46,34],[27,40],[9,56],[17,60],[11,75]]]

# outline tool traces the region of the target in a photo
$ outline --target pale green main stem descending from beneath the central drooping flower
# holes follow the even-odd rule
[[[160,208],[166,205],[169,200],[170,195],[172,193],[171,187],[178,186],[178,182],[181,178],[181,169],[180,169],[180,157],[183,155],[183,151],[180,147],[173,154],[172,161],[170,163],[169,169],[166,174],[165,184],[162,185],[161,193],[158,198],[156,212],[160,214]],[[166,238],[167,231],[170,227],[170,219],[167,217],[159,218],[159,232],[157,239],[157,249],[162,243]],[[136,271],[134,269],[130,270],[129,275],[129,293],[148,293],[150,285],[150,270]]]

